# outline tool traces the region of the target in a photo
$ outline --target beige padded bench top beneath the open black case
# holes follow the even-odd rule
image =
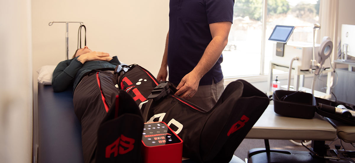
[[[284,117],[269,105],[245,138],[331,141],[337,130],[318,114],[313,119]]]

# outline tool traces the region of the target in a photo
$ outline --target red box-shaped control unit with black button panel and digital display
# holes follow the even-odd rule
[[[144,123],[142,155],[144,163],[181,163],[182,140],[164,122]]]

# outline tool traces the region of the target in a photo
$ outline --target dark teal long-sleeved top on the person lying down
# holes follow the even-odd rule
[[[65,91],[69,86],[73,85],[73,90],[80,82],[82,76],[94,69],[112,68],[121,64],[117,56],[114,56],[111,61],[87,61],[82,64],[77,60],[78,57],[60,62],[54,69],[52,86],[54,92]]]

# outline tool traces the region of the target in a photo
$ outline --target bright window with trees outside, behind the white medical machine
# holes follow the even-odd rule
[[[264,1],[267,1],[267,15],[262,53]],[[268,73],[275,42],[267,39],[275,25],[295,26],[289,41],[311,43],[313,24],[319,20],[319,6],[320,0],[235,0],[233,25],[221,64],[224,77]]]

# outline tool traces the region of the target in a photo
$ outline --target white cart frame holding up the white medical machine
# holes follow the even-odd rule
[[[281,66],[283,65],[282,63],[278,63],[276,61],[270,61],[270,68],[269,68],[269,74],[268,74],[268,85],[269,85],[269,91],[272,90],[272,80],[273,80],[273,69],[277,70],[282,70],[284,72],[289,71],[289,67],[286,66]],[[306,90],[307,93],[311,93],[310,88],[305,88],[304,87],[304,79],[305,75],[310,75],[312,73],[309,73],[308,71],[301,71],[299,66],[295,65],[295,68],[292,69],[292,73],[294,74],[294,84],[293,88],[290,86],[290,90],[294,91],[304,91]],[[323,73],[327,73],[327,90],[326,93],[320,92],[320,91],[315,91],[314,95],[318,98],[323,98],[323,99],[330,99],[331,98],[331,77],[332,77],[332,70],[330,68],[323,70]],[[287,90],[287,85],[281,86],[282,89]]]

